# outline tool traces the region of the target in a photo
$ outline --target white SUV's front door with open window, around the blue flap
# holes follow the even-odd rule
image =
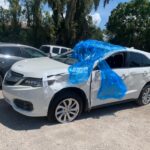
[[[107,104],[111,102],[117,102],[122,101],[124,99],[130,98],[130,78],[129,78],[129,71],[126,66],[126,59],[127,54],[126,52],[119,52],[116,53],[106,59],[106,62],[110,66],[113,71],[115,71],[124,81],[125,85],[127,86],[127,93],[126,96],[123,99],[107,99],[107,100],[101,100],[97,97],[98,90],[101,86],[101,74],[98,67],[96,67],[92,72],[92,82],[91,82],[91,106],[98,106],[101,104]]]

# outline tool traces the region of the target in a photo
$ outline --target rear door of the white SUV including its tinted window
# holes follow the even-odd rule
[[[150,81],[150,60],[137,52],[127,53],[131,97],[138,98],[144,85]]]

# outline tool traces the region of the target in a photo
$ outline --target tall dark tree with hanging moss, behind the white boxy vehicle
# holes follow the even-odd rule
[[[57,44],[73,46],[79,40],[92,38],[89,33],[94,25],[89,23],[88,14],[99,6],[100,0],[48,0],[53,10]],[[109,0],[104,0],[106,5]],[[98,28],[95,28],[98,32]],[[102,35],[102,34],[101,34]]]

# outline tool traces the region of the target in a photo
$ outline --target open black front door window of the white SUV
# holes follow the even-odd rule
[[[106,59],[106,62],[110,66],[110,68],[124,68],[126,67],[125,65],[125,59],[126,55],[125,53],[117,53],[114,54]]]

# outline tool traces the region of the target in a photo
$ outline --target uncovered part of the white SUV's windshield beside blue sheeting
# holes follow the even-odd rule
[[[72,52],[67,52],[65,54],[55,56],[52,59],[68,64],[68,65],[72,65],[77,62],[77,59],[72,57]]]

